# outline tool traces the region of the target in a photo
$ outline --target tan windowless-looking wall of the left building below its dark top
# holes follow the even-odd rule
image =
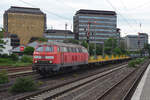
[[[45,28],[44,15],[8,13],[8,33],[17,34],[20,44],[26,45],[31,37],[42,37]]]

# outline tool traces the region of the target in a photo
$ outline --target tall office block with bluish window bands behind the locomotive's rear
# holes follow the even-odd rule
[[[79,10],[73,19],[75,38],[78,40],[103,43],[104,40],[114,37],[119,38],[117,33],[117,16],[114,11]]]

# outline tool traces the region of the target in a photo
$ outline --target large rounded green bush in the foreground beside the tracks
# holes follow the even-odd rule
[[[37,89],[35,81],[31,77],[19,77],[14,85],[10,88],[10,92],[20,93],[29,92]]]

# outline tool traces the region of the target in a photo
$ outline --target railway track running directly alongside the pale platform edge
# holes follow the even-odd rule
[[[126,77],[105,91],[101,96],[97,97],[96,100],[130,100],[148,65],[149,61],[142,66],[143,68],[139,67],[133,70],[133,72],[129,73]]]

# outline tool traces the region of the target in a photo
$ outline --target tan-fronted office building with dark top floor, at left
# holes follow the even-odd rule
[[[32,37],[42,37],[46,28],[46,14],[39,8],[11,6],[3,17],[5,36],[16,34],[23,45]]]

